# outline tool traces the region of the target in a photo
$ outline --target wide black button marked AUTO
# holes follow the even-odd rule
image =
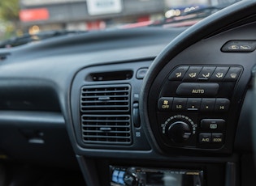
[[[219,91],[218,83],[181,83],[176,90],[177,95],[182,96],[215,96]]]

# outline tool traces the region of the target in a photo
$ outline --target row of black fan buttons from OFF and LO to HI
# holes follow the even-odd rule
[[[158,99],[159,111],[227,112],[230,101],[225,98],[172,98]]]

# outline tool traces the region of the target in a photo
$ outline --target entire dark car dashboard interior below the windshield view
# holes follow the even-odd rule
[[[255,185],[255,10],[1,49],[0,185]]]

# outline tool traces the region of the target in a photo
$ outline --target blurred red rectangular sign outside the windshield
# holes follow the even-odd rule
[[[22,22],[47,20],[49,18],[50,14],[46,8],[25,9],[20,11],[20,21]]]

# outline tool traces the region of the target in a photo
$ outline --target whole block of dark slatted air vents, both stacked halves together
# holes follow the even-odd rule
[[[83,142],[129,145],[132,143],[130,86],[85,86],[80,112]]]

